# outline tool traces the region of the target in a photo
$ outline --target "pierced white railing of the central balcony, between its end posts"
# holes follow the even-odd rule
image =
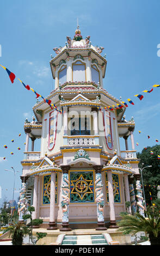
[[[68,137],[67,145],[69,146],[87,146],[95,145],[95,138],[93,137]]]

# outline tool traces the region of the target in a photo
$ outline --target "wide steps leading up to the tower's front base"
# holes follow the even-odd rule
[[[61,245],[108,245],[103,235],[65,235]]]

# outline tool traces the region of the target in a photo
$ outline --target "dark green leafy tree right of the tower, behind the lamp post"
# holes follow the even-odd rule
[[[151,151],[153,155],[151,155]],[[151,168],[145,168],[142,172],[146,204],[149,205],[152,203],[151,197],[152,200],[157,198],[157,186],[160,185],[160,160],[157,158],[158,155],[160,155],[160,145],[144,148],[141,153],[137,153],[137,158],[140,159],[140,168],[152,166]]]

